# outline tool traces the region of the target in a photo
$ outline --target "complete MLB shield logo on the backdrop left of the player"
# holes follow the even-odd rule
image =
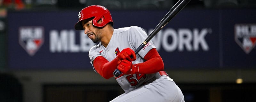
[[[22,26],[19,28],[19,43],[33,56],[44,43],[44,27]]]

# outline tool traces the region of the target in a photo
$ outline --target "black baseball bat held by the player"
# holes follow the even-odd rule
[[[179,0],[172,7],[172,9],[164,16],[164,18],[160,21],[160,23],[156,26],[156,28],[148,35],[146,40],[144,40],[143,43],[134,51],[135,54],[137,55],[140,52],[140,50],[143,47],[145,47],[148,41],[151,40],[156,35],[156,33],[158,33],[161,29],[163,29],[164,26],[167,25],[167,23],[171,21],[172,18],[174,18],[188,4],[188,2],[190,2],[190,0]],[[113,72],[113,75],[115,77],[119,77],[121,73],[122,72],[120,70],[116,69]]]

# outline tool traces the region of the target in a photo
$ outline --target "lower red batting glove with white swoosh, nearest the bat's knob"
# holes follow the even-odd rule
[[[128,61],[127,59],[122,60],[118,64],[117,69],[119,69],[124,74],[135,74],[139,72],[139,67],[136,64],[132,64],[132,62]]]

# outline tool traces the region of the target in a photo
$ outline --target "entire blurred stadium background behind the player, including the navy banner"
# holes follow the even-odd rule
[[[124,93],[95,73],[78,12],[109,9],[114,28],[148,34],[178,0],[0,0],[0,102],[108,102]],[[256,1],[191,0],[152,39],[186,102],[255,102]]]

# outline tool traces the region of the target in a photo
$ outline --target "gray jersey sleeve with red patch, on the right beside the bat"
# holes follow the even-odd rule
[[[147,33],[144,31],[144,29],[138,27],[138,26],[132,26],[130,29],[130,36],[128,36],[128,39],[130,40],[130,43],[134,49],[137,49],[144,40],[148,37]],[[143,47],[138,55],[140,55],[142,58],[145,57],[145,55],[148,53],[148,51],[152,48],[156,48],[153,42],[150,40],[145,47]]]

